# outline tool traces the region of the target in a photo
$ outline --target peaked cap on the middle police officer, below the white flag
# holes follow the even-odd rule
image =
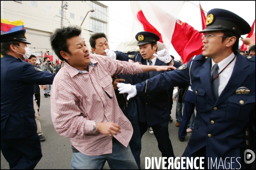
[[[135,38],[138,41],[137,45],[143,45],[150,42],[157,43],[157,41],[160,40],[160,37],[157,34],[147,31],[139,32],[138,34],[136,34]]]

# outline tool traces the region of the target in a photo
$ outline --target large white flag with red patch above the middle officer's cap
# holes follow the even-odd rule
[[[169,50],[177,16],[185,1],[130,1],[134,14],[131,38],[116,46],[118,51],[128,52],[137,48],[135,35],[150,31],[160,37],[158,51]],[[161,43],[162,42],[162,43]]]

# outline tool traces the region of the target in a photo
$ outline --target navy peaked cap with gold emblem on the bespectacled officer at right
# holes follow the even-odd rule
[[[240,37],[248,34],[251,31],[251,27],[243,18],[233,12],[218,8],[211,9],[207,13],[206,28],[199,32],[219,30],[232,31]]]

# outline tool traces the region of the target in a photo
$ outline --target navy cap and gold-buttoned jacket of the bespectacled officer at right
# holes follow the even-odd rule
[[[207,23],[201,32],[228,30],[238,37],[250,32],[250,25],[246,21],[224,9],[210,10]],[[244,129],[250,117],[255,118],[255,56],[244,57],[238,51],[234,51],[234,54],[236,62],[233,72],[217,99],[211,87],[211,58],[202,54],[175,71],[137,84],[136,89],[137,95],[151,95],[190,82],[197,115],[183,156],[204,156],[208,166],[212,159],[223,165],[219,168],[229,168],[232,164],[235,169],[245,168],[244,155],[241,154],[245,145]],[[251,135],[255,136],[255,119],[250,123],[254,127]]]

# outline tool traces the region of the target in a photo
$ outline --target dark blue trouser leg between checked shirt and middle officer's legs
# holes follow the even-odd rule
[[[128,103],[128,107],[126,107],[125,104],[125,109],[123,110],[123,113],[131,122],[134,130],[129,145],[131,148],[131,153],[133,154],[135,161],[137,162],[138,168],[140,169],[141,139],[137,103],[135,99],[132,99],[131,102]]]

